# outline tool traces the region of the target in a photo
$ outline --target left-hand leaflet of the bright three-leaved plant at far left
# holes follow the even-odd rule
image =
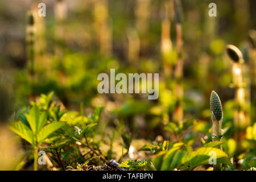
[[[25,139],[27,142],[34,145],[34,135],[30,128],[22,122],[10,122],[9,129],[19,135],[21,138]]]

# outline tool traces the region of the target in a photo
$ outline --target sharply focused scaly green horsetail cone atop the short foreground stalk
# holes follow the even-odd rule
[[[210,94],[210,111],[212,112],[212,117],[214,119],[216,119],[217,121],[220,121],[222,119],[223,113],[221,101],[218,97],[218,94],[214,92],[214,90]]]

